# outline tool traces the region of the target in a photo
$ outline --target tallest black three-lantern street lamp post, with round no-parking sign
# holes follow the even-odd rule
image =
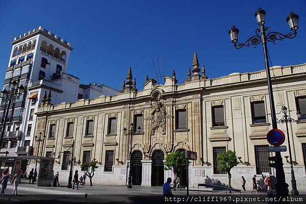
[[[272,127],[277,128],[277,120],[275,114],[275,106],[274,106],[274,98],[273,98],[273,91],[272,91],[272,83],[271,83],[271,75],[270,75],[270,67],[269,67],[269,59],[268,59],[268,49],[267,49],[267,42],[272,42],[275,44],[277,40],[283,40],[285,38],[293,39],[297,35],[298,29],[298,15],[290,12],[289,16],[286,18],[290,29],[293,31],[292,33],[288,33],[286,35],[278,33],[278,32],[271,32],[270,27],[265,27],[265,17],[266,12],[259,8],[255,12],[256,20],[260,26],[255,31],[254,36],[250,37],[246,40],[245,43],[238,43],[238,33],[239,30],[233,26],[228,34],[231,37],[231,41],[234,44],[236,49],[240,49],[242,47],[256,47],[258,44],[262,43],[264,48],[264,56],[265,56],[265,65],[266,65],[266,73],[267,73],[267,82],[268,82],[268,91],[269,91],[269,101],[270,101],[270,109],[271,109],[271,118],[272,118]],[[267,34],[266,34],[267,32]],[[280,152],[275,153],[275,157],[269,157],[270,161],[274,161],[274,163],[270,163],[270,167],[275,168],[276,174],[276,194],[277,195],[288,195],[288,184],[285,180],[285,172],[283,168],[283,160]]]

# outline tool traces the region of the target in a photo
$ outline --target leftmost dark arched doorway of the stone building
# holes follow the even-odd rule
[[[132,153],[132,184],[141,185],[141,175],[142,175],[142,153],[136,150]]]

